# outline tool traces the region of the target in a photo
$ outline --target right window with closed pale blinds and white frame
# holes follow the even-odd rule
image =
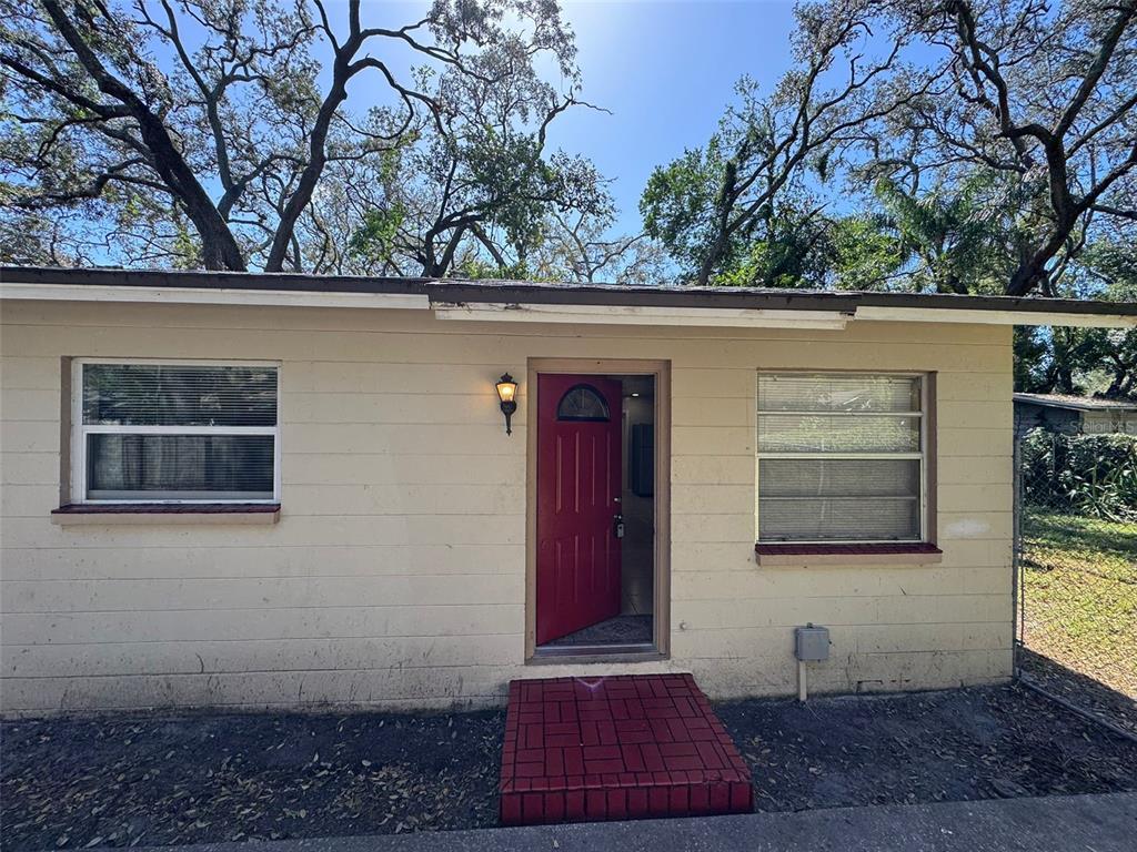
[[[924,537],[920,375],[758,374],[758,541]]]

